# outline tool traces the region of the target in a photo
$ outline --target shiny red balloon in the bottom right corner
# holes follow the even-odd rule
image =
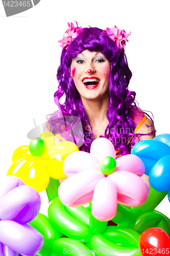
[[[139,237],[139,248],[144,256],[169,255],[170,238],[161,228],[149,228],[141,233]]]

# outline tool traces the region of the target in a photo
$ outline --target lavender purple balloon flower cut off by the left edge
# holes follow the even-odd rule
[[[40,210],[37,191],[17,177],[0,181],[0,255],[36,255],[42,245],[42,235],[27,223]]]

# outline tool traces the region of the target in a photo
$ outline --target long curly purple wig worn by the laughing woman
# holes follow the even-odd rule
[[[66,130],[71,127],[72,129],[77,129],[72,137],[74,138],[73,142],[81,145],[79,150],[90,152],[90,145],[94,139],[92,128],[85,114],[79,92],[70,76],[72,59],[84,50],[100,51],[111,63],[110,103],[107,111],[109,124],[106,127],[104,136],[100,137],[109,139],[113,143],[115,150],[120,150],[122,155],[130,154],[136,137],[140,135],[134,134],[134,122],[131,118],[133,110],[137,108],[134,102],[136,93],[128,90],[132,73],[128,67],[125,53],[123,51],[120,53],[113,40],[99,28],[82,29],[81,34],[70,43],[68,48],[62,50],[61,63],[57,70],[59,87],[54,94],[55,103],[60,110],[47,115],[49,131],[54,134],[62,134],[61,136],[64,139],[69,140]],[[59,100],[63,95],[65,95],[65,102],[60,104]],[[67,125],[65,118],[63,118],[66,116],[72,116]],[[75,119],[74,116],[78,118]],[[83,131],[78,128],[79,120],[81,120]],[[87,124],[90,126],[91,131],[87,129]]]

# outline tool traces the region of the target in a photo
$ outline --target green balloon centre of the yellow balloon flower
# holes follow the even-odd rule
[[[33,157],[41,157],[45,151],[45,144],[39,137],[35,137],[30,141],[30,153]]]

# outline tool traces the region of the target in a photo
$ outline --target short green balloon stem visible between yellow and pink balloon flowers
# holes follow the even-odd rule
[[[60,186],[60,182],[58,180],[50,178],[50,182],[47,186],[46,195],[48,200],[51,202],[54,198],[58,197],[58,188]]]

